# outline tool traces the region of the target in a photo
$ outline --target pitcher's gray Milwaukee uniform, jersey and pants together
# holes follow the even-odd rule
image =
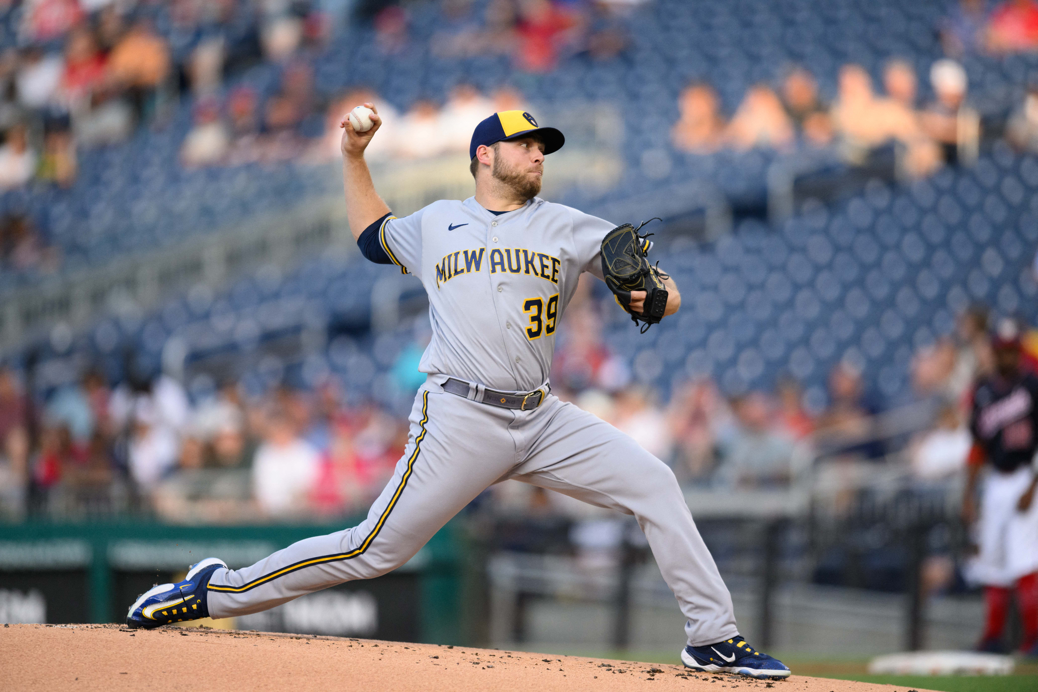
[[[688,643],[738,634],[674,473],[612,425],[547,393],[558,321],[580,274],[601,278],[599,246],[612,227],[537,197],[499,216],[470,197],[388,217],[379,241],[421,279],[433,327],[404,455],[358,526],[218,570],[210,614],[258,612],[394,570],[487,487],[515,478],[636,517],[688,618]],[[536,404],[498,408],[484,403],[488,388]]]

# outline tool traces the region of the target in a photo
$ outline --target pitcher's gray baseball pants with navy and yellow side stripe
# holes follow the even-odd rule
[[[693,646],[738,634],[732,598],[663,462],[572,404],[548,395],[530,411],[418,390],[392,478],[358,526],[295,543],[242,570],[217,570],[212,617],[246,615],[407,562],[489,486],[515,478],[637,518]],[[482,390],[482,387],[479,388]],[[482,391],[479,391],[482,395]]]

